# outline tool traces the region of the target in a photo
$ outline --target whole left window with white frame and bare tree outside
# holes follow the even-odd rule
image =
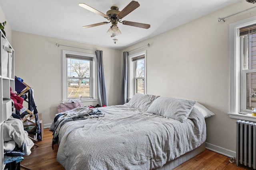
[[[94,100],[96,56],[63,51],[63,101]]]

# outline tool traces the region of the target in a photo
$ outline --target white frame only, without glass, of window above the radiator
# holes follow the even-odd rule
[[[242,101],[246,95],[244,84],[245,74],[248,71],[243,71],[240,59],[240,37],[239,29],[256,23],[256,17],[248,18],[246,20],[238,21],[230,24],[230,104],[229,116],[234,119],[243,119],[248,121],[256,121],[256,117],[252,113],[244,109],[246,101]],[[251,71],[251,70],[250,70]],[[244,75],[241,75],[244,74]],[[245,114],[243,114],[245,113]]]

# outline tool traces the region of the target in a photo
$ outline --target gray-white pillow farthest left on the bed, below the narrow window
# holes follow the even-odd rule
[[[126,103],[127,106],[132,106],[141,110],[146,111],[150,104],[160,96],[154,96],[150,94],[136,93],[131,100]]]

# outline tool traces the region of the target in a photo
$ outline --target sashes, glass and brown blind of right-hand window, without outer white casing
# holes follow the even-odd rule
[[[239,29],[241,110],[252,111],[256,107],[256,25]]]

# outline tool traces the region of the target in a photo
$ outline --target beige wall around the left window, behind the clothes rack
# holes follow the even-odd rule
[[[121,57],[120,50],[108,49],[74,41],[56,39],[12,31],[15,50],[15,75],[34,88],[34,98],[44,125],[52,123],[56,108],[62,102],[62,50],[94,53],[71,47],[57,47],[56,43],[103,51],[103,67],[109,105],[119,104]],[[84,102],[95,106],[98,102]]]

